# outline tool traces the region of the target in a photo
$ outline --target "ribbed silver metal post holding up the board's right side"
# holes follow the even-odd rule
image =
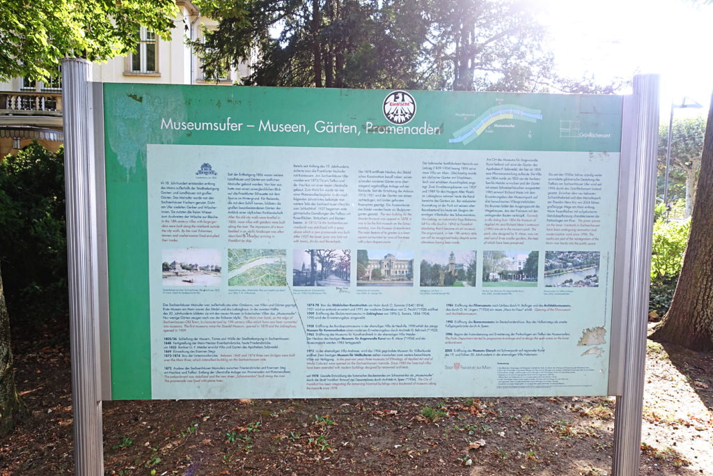
[[[625,340],[623,388],[617,397],[614,423],[612,473],[617,476],[639,474],[641,416],[646,367],[646,330],[648,289],[650,284],[651,220],[656,191],[656,156],[658,150],[659,77],[635,76],[635,121],[631,161],[632,207],[627,215],[631,233],[626,244],[627,280],[623,293],[622,315],[627,325]],[[625,186],[622,184],[621,186]]]

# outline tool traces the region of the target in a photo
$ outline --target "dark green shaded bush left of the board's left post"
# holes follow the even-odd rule
[[[38,143],[0,161],[0,261],[11,320],[68,306],[63,151]]]

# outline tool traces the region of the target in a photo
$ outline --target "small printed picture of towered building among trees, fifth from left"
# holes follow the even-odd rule
[[[469,287],[476,285],[475,251],[421,251],[421,286]]]

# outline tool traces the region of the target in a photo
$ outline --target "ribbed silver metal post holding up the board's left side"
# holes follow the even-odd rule
[[[77,475],[103,474],[91,63],[63,59],[69,315]]]

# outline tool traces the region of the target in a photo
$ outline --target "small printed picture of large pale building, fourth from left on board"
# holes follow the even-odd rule
[[[414,252],[405,250],[356,250],[356,285],[414,285]]]

